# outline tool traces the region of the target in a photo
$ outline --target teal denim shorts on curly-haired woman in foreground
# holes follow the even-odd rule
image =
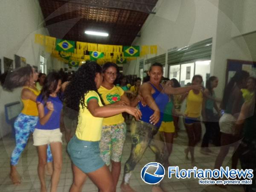
[[[79,140],[74,135],[67,145],[67,152],[74,165],[84,173],[94,172],[105,165],[100,157],[99,141]]]

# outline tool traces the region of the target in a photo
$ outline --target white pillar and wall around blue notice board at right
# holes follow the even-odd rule
[[[233,22],[236,6],[236,1],[219,0],[218,25],[215,48],[213,50],[214,54],[212,54],[211,75],[219,78],[216,96],[220,98],[222,97],[225,85],[227,59],[253,61],[253,57],[255,58],[253,55],[255,55],[256,47],[253,42],[256,42],[256,35],[241,35],[237,24]],[[240,36],[233,38],[233,32]]]

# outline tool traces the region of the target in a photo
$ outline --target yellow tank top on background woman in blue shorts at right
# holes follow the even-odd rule
[[[193,90],[190,90],[186,101],[187,102],[185,115],[193,118],[200,117],[203,102],[203,93],[200,91],[198,94],[195,94]]]

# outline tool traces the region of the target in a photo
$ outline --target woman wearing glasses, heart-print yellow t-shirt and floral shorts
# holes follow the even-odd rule
[[[98,90],[105,105],[120,106],[131,105],[136,106],[140,101],[140,96],[131,103],[124,94],[121,87],[115,86],[114,82],[118,76],[118,66],[114,63],[107,62],[103,65],[103,81]],[[102,136],[100,140],[101,157],[106,165],[111,164],[111,174],[116,191],[116,185],[121,172],[122,151],[126,137],[126,124],[122,113],[103,119]]]

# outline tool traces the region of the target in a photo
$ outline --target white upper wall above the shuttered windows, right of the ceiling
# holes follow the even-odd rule
[[[159,0],[156,7],[156,15],[148,16],[134,45],[157,45],[160,55],[172,47],[215,38],[218,0]],[[125,74],[134,74],[130,69],[124,65]]]

